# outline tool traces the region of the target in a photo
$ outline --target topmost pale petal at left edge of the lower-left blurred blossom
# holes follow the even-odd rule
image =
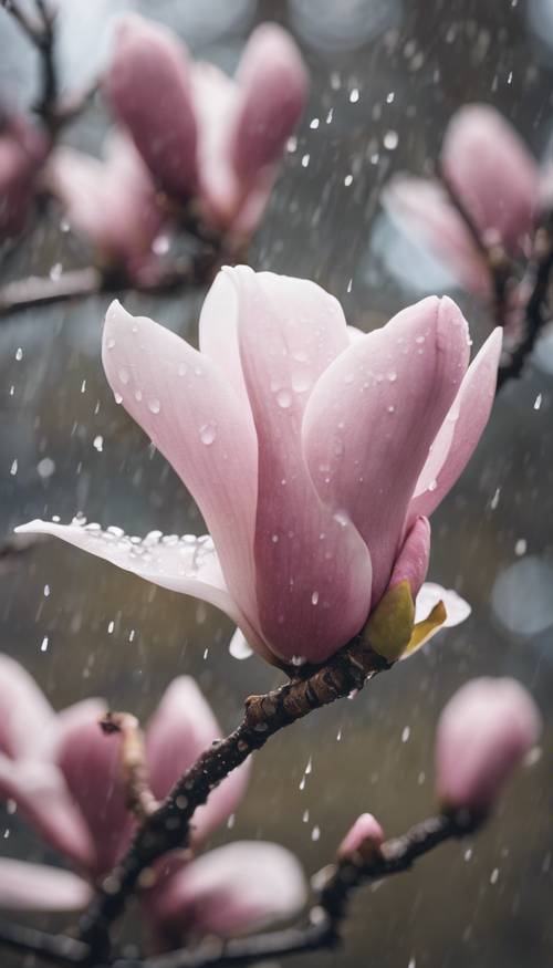
[[[12,759],[33,757],[53,719],[53,709],[32,676],[0,654],[0,752]]]

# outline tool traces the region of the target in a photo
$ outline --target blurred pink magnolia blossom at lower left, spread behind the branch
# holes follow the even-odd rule
[[[91,885],[128,845],[134,821],[119,779],[118,736],[98,726],[105,704],[85,699],[55,714],[33,679],[0,655],[0,797],[14,800],[80,875],[0,858],[0,906],[83,907]],[[146,731],[152,790],[164,798],[185,770],[220,736],[194,679],[168,687]],[[244,763],[194,815],[192,853],[232,813],[243,795]],[[295,858],[276,844],[237,842],[198,858],[173,852],[158,861],[140,898],[154,930],[221,936],[286,917],[303,904]]]

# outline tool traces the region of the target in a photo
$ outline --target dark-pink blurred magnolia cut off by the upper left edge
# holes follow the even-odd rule
[[[24,228],[40,168],[48,152],[46,139],[19,117],[0,121],[0,239]]]

